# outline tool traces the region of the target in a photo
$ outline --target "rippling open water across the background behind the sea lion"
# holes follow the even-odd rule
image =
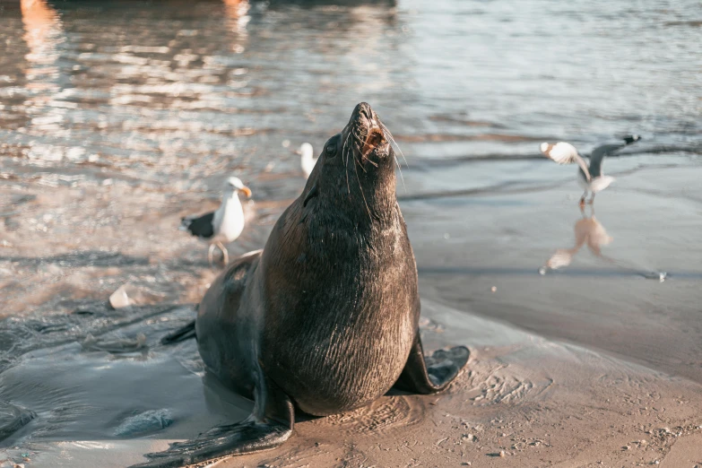
[[[318,149],[360,100],[411,162],[534,156],[543,139],[587,151],[627,132],[698,152],[695,12],[693,1],[5,1],[4,172],[188,187],[270,161],[290,170],[282,142]]]

